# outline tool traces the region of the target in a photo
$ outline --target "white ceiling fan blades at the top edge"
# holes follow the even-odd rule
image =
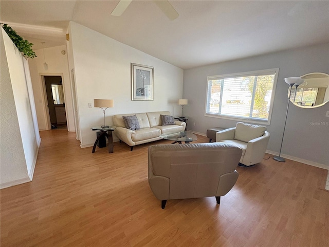
[[[112,11],[111,15],[120,16],[126,8],[130,5],[132,0],[120,0],[117,6]],[[170,21],[175,20],[179,14],[174,9],[174,7],[166,0],[152,1],[155,3],[165,15],[169,18]]]

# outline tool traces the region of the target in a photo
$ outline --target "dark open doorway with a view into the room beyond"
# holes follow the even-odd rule
[[[51,129],[67,128],[61,76],[44,76]]]

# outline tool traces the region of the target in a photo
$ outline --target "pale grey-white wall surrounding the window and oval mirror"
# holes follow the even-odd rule
[[[207,76],[268,68],[280,69],[271,123],[268,126],[271,136],[267,147],[272,153],[278,153],[288,103],[288,85],[284,78],[312,72],[329,74],[329,44],[184,70],[183,97],[189,100],[189,104],[184,107],[184,115],[190,117],[188,129],[206,133],[211,127],[235,126],[236,121],[205,116]],[[302,109],[291,104],[281,156],[329,169],[329,118],[325,117],[326,111],[329,111],[329,104],[315,109]],[[196,126],[193,126],[193,122]]]

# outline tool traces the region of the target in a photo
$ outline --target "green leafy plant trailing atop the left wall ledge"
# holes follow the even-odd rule
[[[22,52],[22,55],[27,58],[36,57],[35,52],[32,50],[32,43],[29,43],[28,40],[24,40],[19,34],[16,33],[14,29],[8,26],[5,23],[0,23],[3,29],[8,34],[11,41],[15,44],[15,46]]]

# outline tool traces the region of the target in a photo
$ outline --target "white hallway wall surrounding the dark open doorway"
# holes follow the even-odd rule
[[[65,55],[61,52],[65,51]],[[52,76],[59,75],[63,78],[63,90],[65,99],[65,110],[67,118],[68,131],[76,131],[74,122],[74,112],[72,103],[72,91],[68,70],[66,46],[55,46],[45,48],[45,59],[48,64],[48,70],[44,69],[43,49],[35,50],[36,58],[29,59],[30,73],[32,79],[33,93],[35,99],[36,115],[38,116],[39,130],[49,130],[47,118],[49,118],[47,98],[44,95],[44,82],[41,75]]]

